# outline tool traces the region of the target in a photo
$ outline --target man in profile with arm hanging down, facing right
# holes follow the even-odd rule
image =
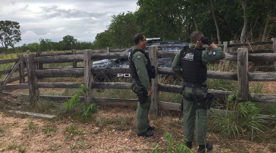
[[[151,105],[151,79],[155,78],[154,67],[145,53],[146,37],[144,34],[134,36],[135,46],[130,50],[128,61],[132,77],[132,90],[138,96],[138,106],[136,110],[137,136],[153,136],[154,126],[150,126],[148,111]]]

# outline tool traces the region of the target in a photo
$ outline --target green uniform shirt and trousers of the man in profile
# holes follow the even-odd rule
[[[138,47],[133,47],[133,49]],[[138,48],[139,49],[139,48]],[[148,63],[148,59],[145,57],[143,53],[137,51],[132,56],[132,61],[135,65],[136,72],[141,81],[139,88],[137,85],[134,86],[134,90],[143,91],[146,88],[147,91],[151,90],[151,80],[148,77],[148,71],[146,69],[146,64]],[[148,102],[144,104],[140,104],[138,102],[137,110],[136,110],[136,121],[137,121],[137,132],[142,133],[145,132],[149,127],[148,120],[148,111],[151,105],[151,97],[148,97]]]

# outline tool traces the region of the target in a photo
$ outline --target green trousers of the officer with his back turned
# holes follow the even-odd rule
[[[192,97],[192,88],[185,87],[183,92],[185,97]],[[196,89],[196,96],[204,96],[205,93],[206,90]],[[208,126],[207,109],[196,110],[194,101],[183,99],[183,127],[187,141],[194,141],[194,125],[196,125],[196,142],[198,145],[204,145]]]

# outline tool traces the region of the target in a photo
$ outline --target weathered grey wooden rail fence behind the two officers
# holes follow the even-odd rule
[[[239,48],[237,54],[227,53],[228,48],[239,47],[239,46],[253,46],[253,45],[272,45],[273,53],[255,53],[248,54],[247,48]],[[263,62],[274,62],[276,61],[276,38],[273,38],[272,41],[267,42],[255,42],[255,43],[246,43],[246,44],[228,44],[224,42],[223,45],[218,45],[224,48],[226,57],[223,61],[237,61],[238,62],[238,72],[217,72],[217,71],[208,71],[207,78],[209,79],[225,79],[225,80],[238,80],[239,83],[239,93],[241,97],[247,101],[248,100],[248,84],[249,81],[276,81],[276,73],[249,73],[248,72],[248,61],[263,61]],[[208,47],[208,46],[204,46]],[[2,60],[0,64],[15,62],[15,65],[12,69],[0,71],[0,74],[14,72],[18,70],[18,62],[20,62],[20,69],[22,67],[27,67],[28,74],[28,83],[24,83],[24,80],[21,81],[21,84],[6,85],[0,86],[0,90],[13,90],[13,89],[24,89],[29,88],[29,95],[20,95],[30,100],[31,103],[35,103],[38,98],[49,99],[53,101],[63,101],[71,98],[70,96],[42,96],[39,95],[39,88],[78,88],[77,83],[38,83],[37,77],[67,77],[81,75],[84,76],[84,84],[88,88],[88,92],[85,97],[82,99],[86,100],[86,103],[94,101],[98,104],[108,104],[108,105],[125,105],[125,106],[136,106],[137,99],[110,99],[110,98],[98,98],[93,96],[94,88],[113,88],[113,89],[131,89],[131,83],[94,83],[93,74],[117,74],[117,73],[130,73],[129,68],[119,67],[119,68],[93,68],[93,60],[101,59],[113,59],[113,58],[128,58],[129,52],[115,52],[115,51],[124,51],[126,49],[114,50],[84,50],[83,52],[72,53],[47,53],[47,54],[28,54],[25,58],[21,56],[18,59]],[[174,57],[177,51],[163,51],[157,50],[157,46],[149,47],[149,57],[151,63],[154,66],[158,66],[158,58],[162,57]],[[22,62],[23,61],[23,62]],[[26,66],[24,64],[26,62]],[[58,68],[58,69],[36,69],[39,67],[39,64],[42,63],[61,63],[61,62],[84,62],[84,68],[73,67],[72,68]],[[5,73],[4,73],[5,72]],[[21,71],[20,71],[21,72]],[[20,73],[21,74],[21,73]],[[158,75],[175,75],[171,68],[162,68],[158,67],[156,69],[157,77],[152,80],[152,89],[153,94],[151,96],[151,114],[158,114],[159,107],[168,110],[179,110],[178,103],[169,103],[159,101],[159,91],[171,92],[171,93],[180,93],[182,90],[181,86],[159,84]],[[22,73],[22,76],[25,76]],[[20,79],[20,77],[19,77]],[[10,80],[11,81],[11,80]],[[10,82],[7,78],[4,80],[4,83]],[[215,98],[225,99],[227,95],[233,94],[234,92],[229,91],[220,91],[220,90],[211,90],[215,95]],[[3,92],[4,95],[17,95]],[[274,94],[251,94],[254,102],[262,103],[276,103]],[[214,111],[217,111],[213,109]]]

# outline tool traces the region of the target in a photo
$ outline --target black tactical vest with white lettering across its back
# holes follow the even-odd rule
[[[205,82],[207,80],[207,67],[202,63],[204,48],[184,47],[180,53],[182,76],[187,82]]]

